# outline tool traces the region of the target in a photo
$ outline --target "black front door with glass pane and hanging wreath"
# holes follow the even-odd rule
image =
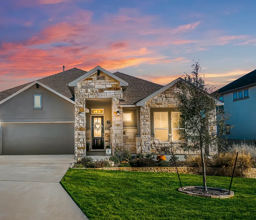
[[[92,150],[104,150],[103,116],[92,116]]]

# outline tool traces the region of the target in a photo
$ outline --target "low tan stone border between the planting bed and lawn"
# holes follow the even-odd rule
[[[176,173],[176,167],[106,167],[106,168],[73,168],[72,169],[97,169],[97,170],[120,170],[120,171],[145,171],[145,172],[164,172]],[[179,173],[202,175],[201,168],[198,167],[178,167]],[[256,178],[256,168],[239,169],[235,173],[236,177]],[[227,176],[227,171],[222,168],[207,168],[206,175]]]

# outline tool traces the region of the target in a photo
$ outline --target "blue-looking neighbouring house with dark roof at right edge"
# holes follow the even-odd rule
[[[256,142],[256,70],[218,90],[224,109],[230,113],[228,123],[234,125],[227,132],[228,142]]]

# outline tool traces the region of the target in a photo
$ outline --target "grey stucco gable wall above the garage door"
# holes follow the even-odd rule
[[[42,108],[33,109],[34,94],[42,94]],[[74,104],[39,85],[0,105],[0,122],[74,121]]]

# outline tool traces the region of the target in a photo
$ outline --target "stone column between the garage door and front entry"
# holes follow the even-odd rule
[[[75,88],[75,158],[86,156],[85,98]],[[81,112],[81,116],[79,116]]]

